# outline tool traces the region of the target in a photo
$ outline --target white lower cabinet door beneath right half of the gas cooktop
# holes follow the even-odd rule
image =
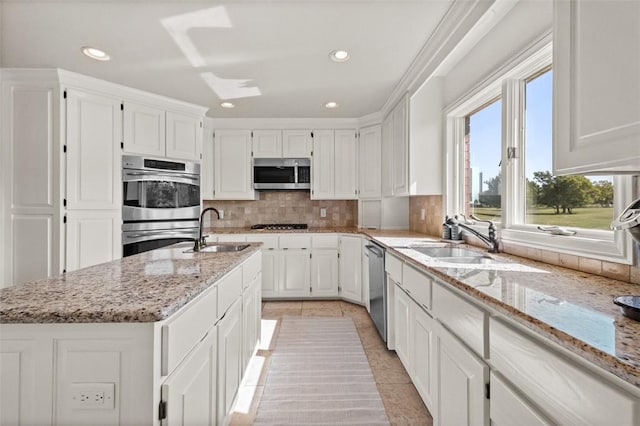
[[[306,297],[310,295],[311,259],[309,251],[282,250],[280,255],[279,297]]]

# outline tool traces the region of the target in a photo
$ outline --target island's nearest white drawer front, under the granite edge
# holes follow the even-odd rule
[[[207,289],[162,326],[163,376],[169,375],[215,324],[219,312],[217,291],[215,286]]]

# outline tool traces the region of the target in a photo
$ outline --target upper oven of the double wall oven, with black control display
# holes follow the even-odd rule
[[[200,216],[200,164],[122,157],[122,220],[177,220]]]

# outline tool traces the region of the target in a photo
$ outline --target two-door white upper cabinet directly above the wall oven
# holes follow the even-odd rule
[[[153,99],[149,99],[149,103],[152,104]],[[202,157],[202,115],[125,101],[122,120],[127,154],[191,161]]]

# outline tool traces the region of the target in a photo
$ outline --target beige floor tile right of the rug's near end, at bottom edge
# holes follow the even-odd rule
[[[380,383],[378,390],[392,425],[433,425],[431,414],[411,383]]]

